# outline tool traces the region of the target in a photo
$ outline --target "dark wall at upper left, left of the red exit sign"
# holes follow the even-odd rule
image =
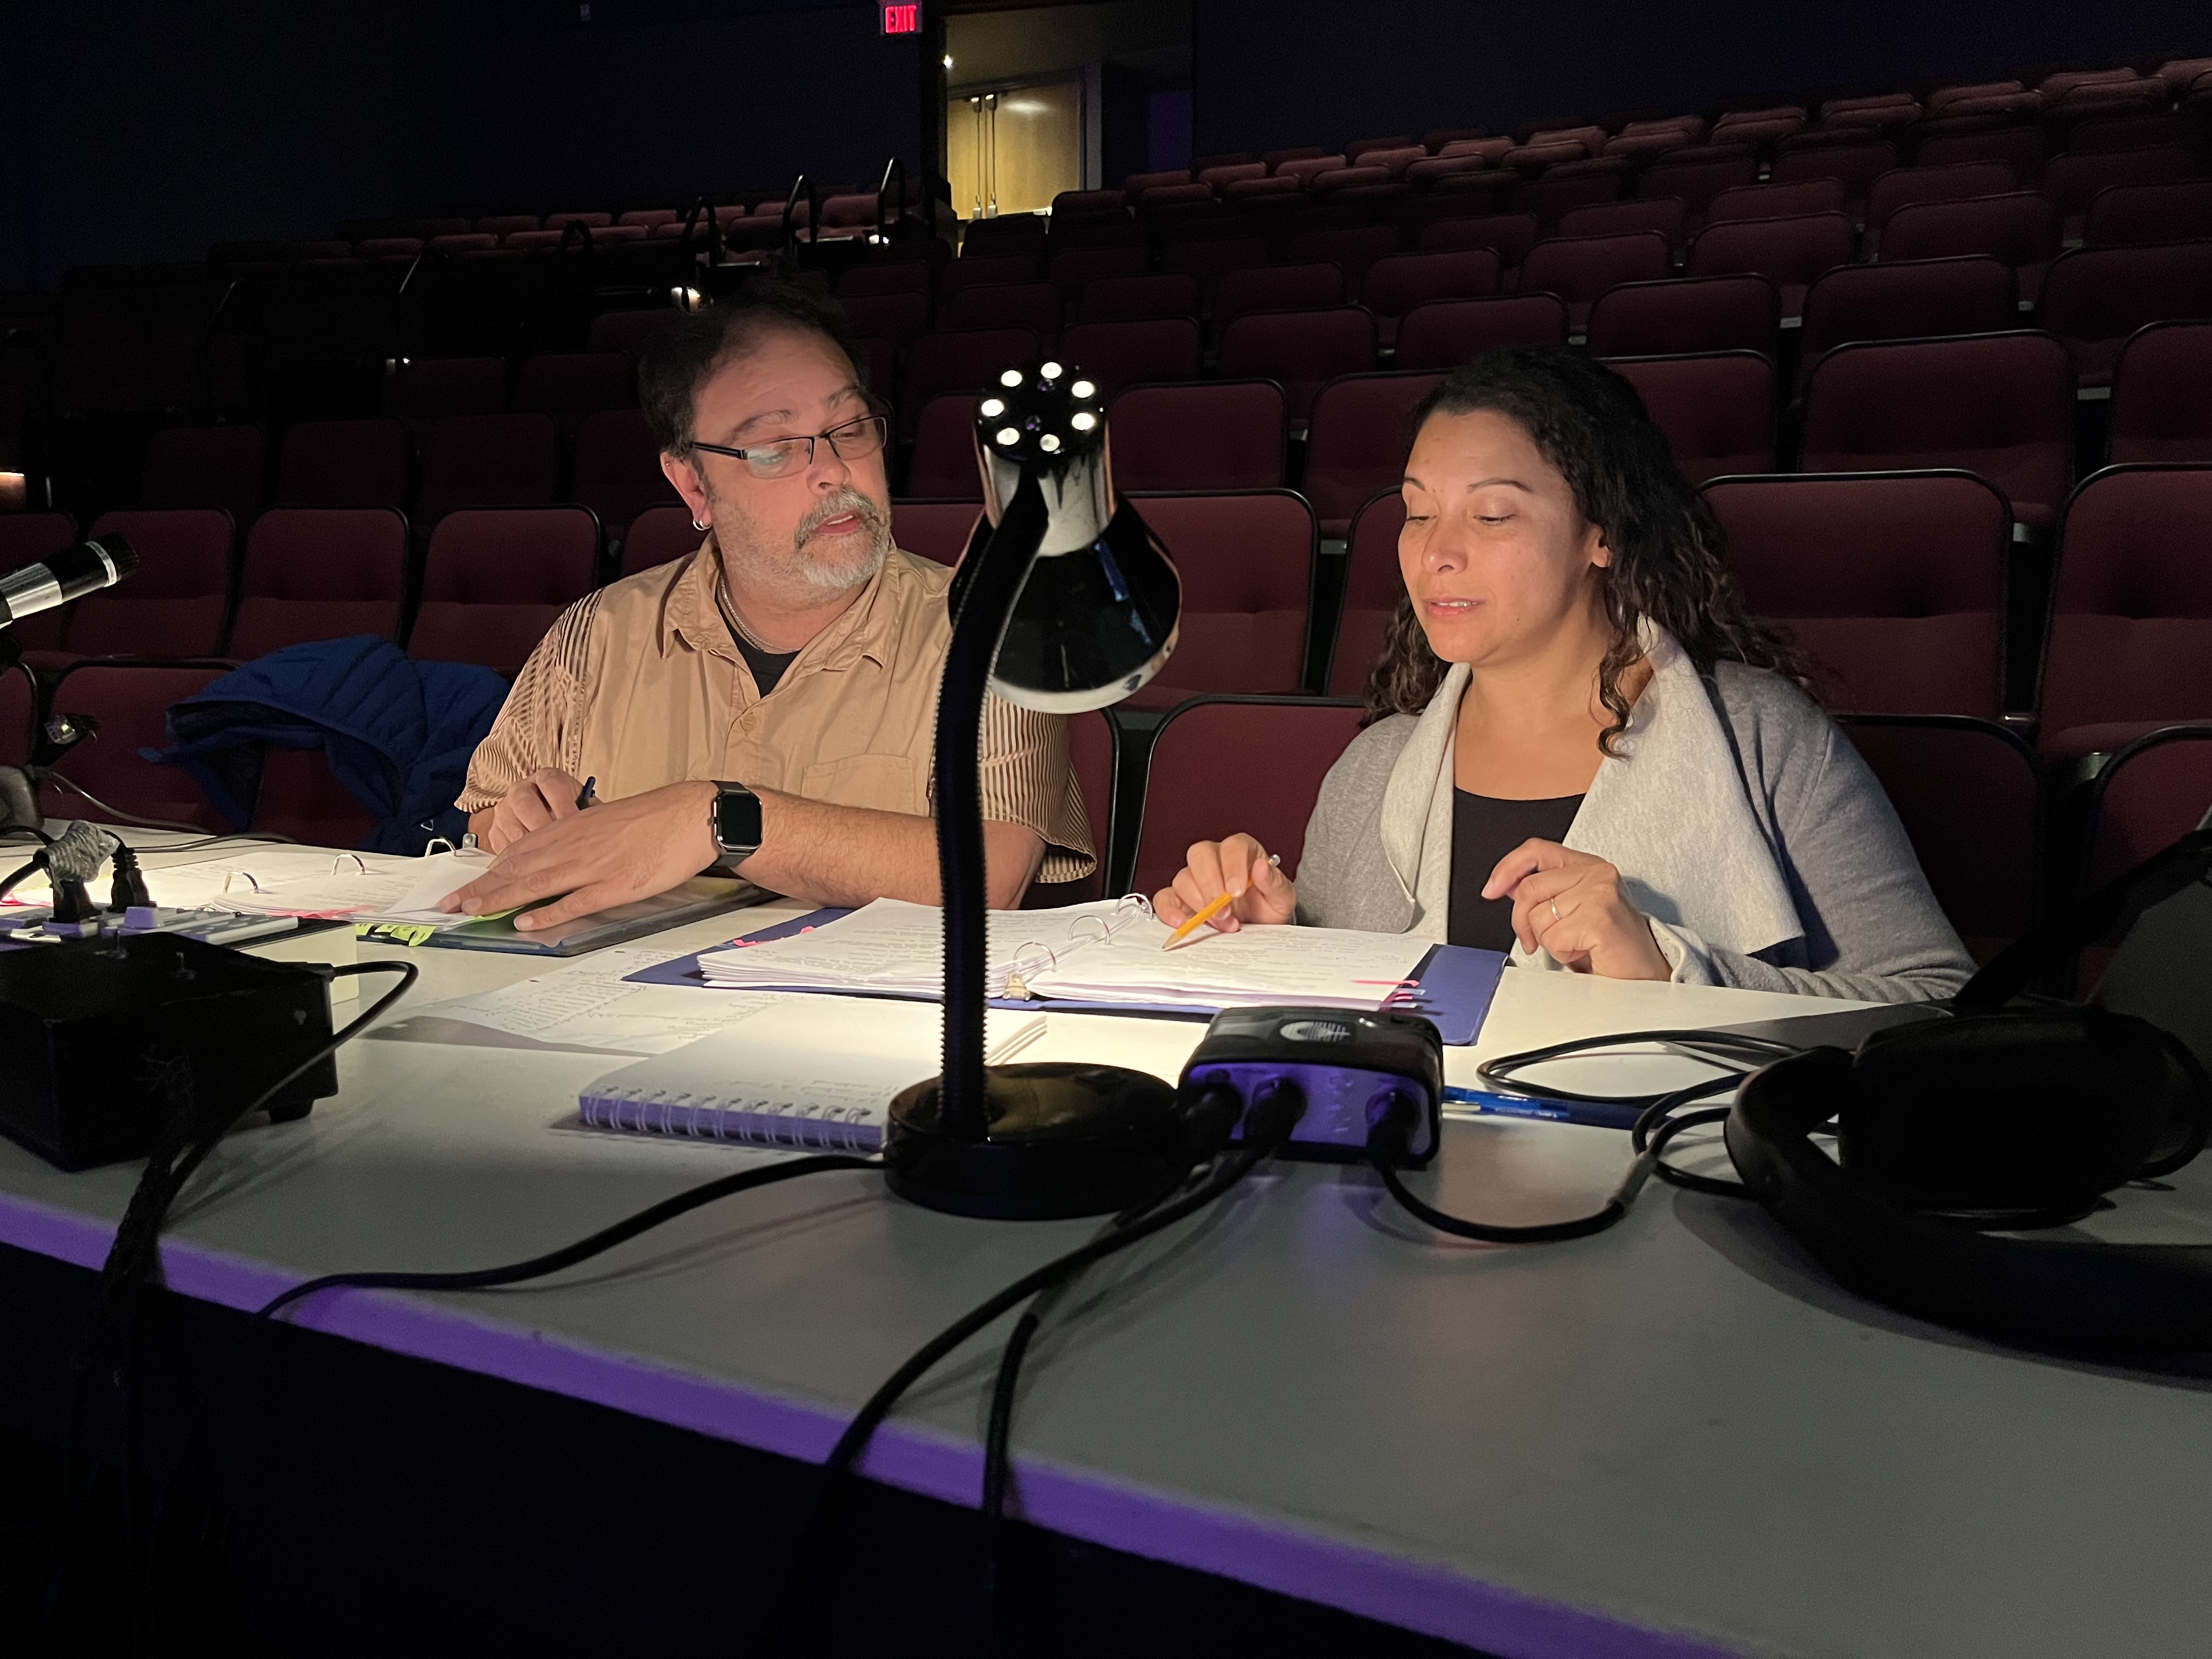
[[[0,288],[354,215],[916,166],[918,46],[849,0],[0,7]]]

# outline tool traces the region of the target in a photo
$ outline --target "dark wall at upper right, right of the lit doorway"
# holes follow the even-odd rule
[[[2212,51],[2212,13],[2203,0],[1206,0],[1194,46],[1206,153]]]

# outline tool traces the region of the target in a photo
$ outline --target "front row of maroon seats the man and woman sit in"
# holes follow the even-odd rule
[[[139,757],[166,741],[164,712],[219,670],[73,668],[46,708],[91,714],[97,737],[69,750],[44,783],[55,816],[117,814],[223,830],[190,779]],[[0,675],[0,765],[31,754],[40,714],[29,677]],[[1071,721],[1102,874],[1033,902],[1157,891],[1194,841],[1243,830],[1298,869],[1323,774],[1363,723],[1363,706],[1316,697],[1197,697],[1141,730],[1108,712]],[[2163,728],[2119,752],[2084,790],[2046,779],[2002,726],[1960,717],[1843,717],[1905,821],[1920,865],[1975,958],[2035,925],[2053,900],[2128,869],[2192,830],[2212,807],[2212,723]],[[2062,810],[2064,807],[2064,810]],[[2053,821],[2068,834],[2053,836]],[[254,827],[349,845],[367,816],[314,752],[272,752]],[[2090,962],[2090,969],[2095,964]]]

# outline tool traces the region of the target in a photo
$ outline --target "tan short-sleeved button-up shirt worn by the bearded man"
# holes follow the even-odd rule
[[[761,697],[714,604],[721,553],[697,553],[584,595],[553,624],[469,761],[460,810],[493,805],[540,765],[622,799],[730,779],[810,801],[931,812],[938,677],[953,573],[891,549],[852,608]],[[989,697],[984,818],[1044,838],[1040,880],[1091,874],[1091,827],[1068,726]]]

